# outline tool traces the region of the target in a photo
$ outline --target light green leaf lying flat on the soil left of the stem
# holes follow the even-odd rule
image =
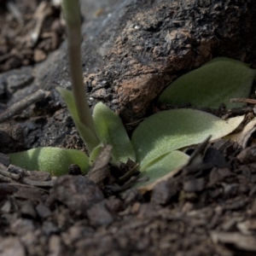
[[[67,148],[32,148],[27,151],[9,154],[10,164],[28,171],[45,171],[53,176],[67,174],[68,166],[76,164],[81,172],[89,168],[89,158],[83,152]]]

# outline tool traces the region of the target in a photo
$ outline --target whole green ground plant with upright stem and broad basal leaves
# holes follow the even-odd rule
[[[133,160],[142,175],[149,177],[147,183],[153,183],[188,162],[189,155],[182,148],[201,143],[209,135],[212,140],[224,137],[241,124],[243,116],[224,120],[199,110],[172,109],[144,119],[130,138],[119,116],[102,102],[96,104],[91,115],[81,65],[79,0],[63,0],[62,7],[67,22],[73,90],[60,87],[57,90],[90,155],[75,149],[32,148],[10,154],[12,164],[27,170],[48,171],[55,176],[67,173],[68,166],[77,164],[86,173],[104,145],[110,144],[113,165]],[[190,102],[198,108],[218,108],[224,102],[230,108],[230,98],[249,95],[255,74],[255,70],[241,61],[216,58],[177,79],[163,91],[159,101],[177,106]]]

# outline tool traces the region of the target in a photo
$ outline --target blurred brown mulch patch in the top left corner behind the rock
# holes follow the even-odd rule
[[[0,1],[0,72],[44,61],[63,41],[60,5]]]

